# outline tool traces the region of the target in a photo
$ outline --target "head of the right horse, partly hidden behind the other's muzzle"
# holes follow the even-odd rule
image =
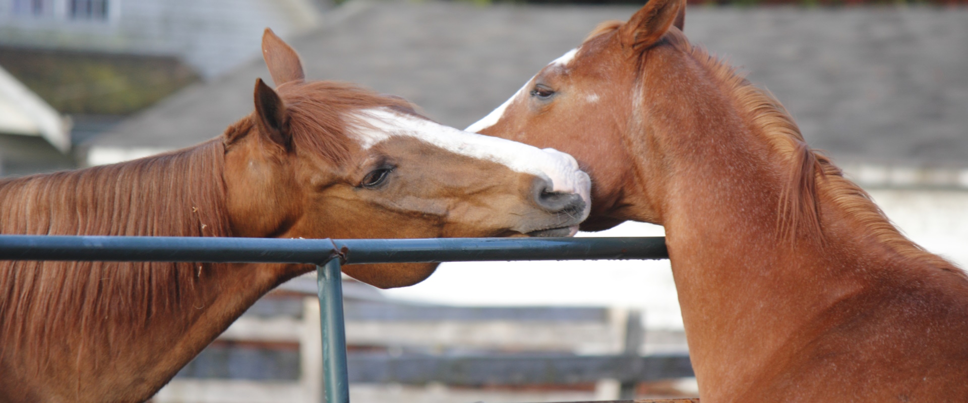
[[[606,229],[632,216],[660,221],[654,212],[641,211],[641,200],[649,200],[648,195],[629,194],[633,190],[628,184],[653,186],[643,183],[648,176],[635,172],[629,154],[649,147],[629,141],[649,138],[631,132],[648,131],[654,123],[644,116],[649,100],[643,99],[642,90],[668,77],[648,75],[643,65],[656,62],[653,55],[659,47],[663,57],[676,52],[675,46],[663,44],[674,25],[682,28],[681,3],[650,0],[627,22],[602,23],[585,43],[551,62],[467,130],[552,147],[577,158],[594,184],[591,214],[582,229]],[[626,202],[629,197],[637,201]]]

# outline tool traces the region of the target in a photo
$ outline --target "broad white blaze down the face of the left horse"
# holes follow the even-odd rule
[[[367,125],[354,131],[364,150],[393,136],[415,137],[454,154],[494,161],[512,171],[545,178],[551,181],[552,191],[581,195],[586,205],[583,215],[589,214],[589,175],[570,155],[555,149],[540,150],[516,141],[457,130],[387,108],[364,110],[360,118]]]

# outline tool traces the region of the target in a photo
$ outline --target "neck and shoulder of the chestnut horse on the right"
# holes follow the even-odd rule
[[[646,206],[666,228],[704,401],[871,389],[898,390],[896,398],[910,390],[888,386],[905,380],[952,389],[941,376],[937,387],[921,384],[941,372],[962,385],[965,274],[901,236],[826,160],[803,153],[775,101],[693,53],[691,66],[670,68],[662,53],[646,65],[661,79],[643,86],[650,103],[632,121],[645,125],[625,138],[638,158],[629,176],[641,182],[624,190],[626,203]],[[816,209],[803,209],[814,200]],[[889,368],[899,372],[871,377]]]

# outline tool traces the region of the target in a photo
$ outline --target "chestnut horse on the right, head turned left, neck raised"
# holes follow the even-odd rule
[[[665,226],[703,403],[968,401],[965,273],[690,44],[681,3],[599,25],[468,130],[578,158],[584,229]]]

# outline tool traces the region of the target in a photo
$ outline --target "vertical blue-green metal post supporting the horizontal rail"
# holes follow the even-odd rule
[[[319,323],[322,327],[322,378],[327,403],[349,403],[347,331],[343,322],[340,259],[317,266]]]

